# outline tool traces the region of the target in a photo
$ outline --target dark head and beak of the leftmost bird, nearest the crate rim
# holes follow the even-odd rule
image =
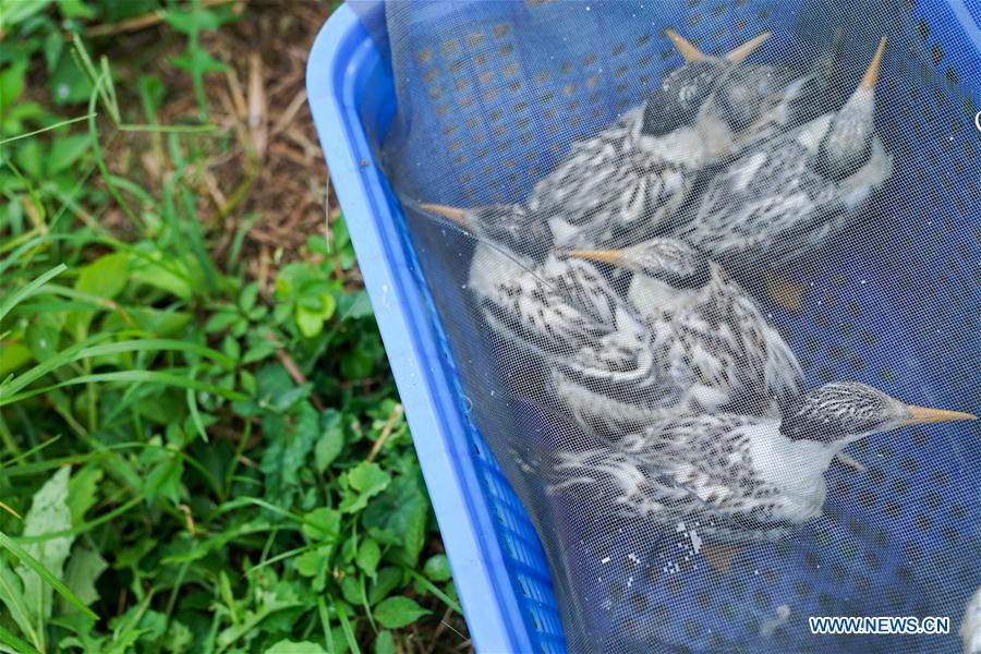
[[[489,241],[508,252],[540,258],[552,245],[548,222],[529,214],[521,205],[483,205],[467,209],[437,204],[420,207],[448,218],[477,239]]]

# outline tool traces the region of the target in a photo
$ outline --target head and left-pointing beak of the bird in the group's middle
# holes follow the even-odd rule
[[[708,258],[677,239],[651,239],[622,250],[569,250],[565,254],[646,275],[676,289],[701,288],[712,274]]]

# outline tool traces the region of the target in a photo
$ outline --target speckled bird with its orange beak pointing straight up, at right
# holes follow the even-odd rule
[[[840,232],[893,171],[873,125],[885,43],[838,111],[727,165],[665,233],[698,243],[730,270],[760,272]]]

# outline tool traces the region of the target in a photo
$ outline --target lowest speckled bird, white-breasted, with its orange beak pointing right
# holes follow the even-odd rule
[[[906,404],[855,382],[801,396],[785,416],[704,414],[650,425],[611,448],[557,452],[550,492],[591,488],[594,502],[716,542],[775,540],[822,513],[824,473],[849,444],[906,425],[974,420]]]

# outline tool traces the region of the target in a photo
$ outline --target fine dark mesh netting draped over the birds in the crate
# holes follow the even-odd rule
[[[380,156],[543,650],[959,649],[981,439],[901,425],[978,410],[981,71],[920,4],[386,3]]]

